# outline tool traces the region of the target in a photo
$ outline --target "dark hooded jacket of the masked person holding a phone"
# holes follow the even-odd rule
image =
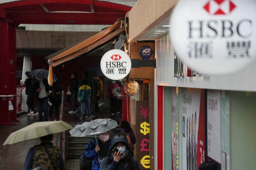
[[[119,162],[114,161],[112,150],[117,143],[124,143],[126,145],[127,155],[124,159],[120,159]],[[136,159],[132,157],[132,150],[127,142],[127,139],[123,136],[115,136],[112,140],[112,144],[108,151],[108,157],[103,158],[101,164],[101,170],[139,170],[139,165]]]

